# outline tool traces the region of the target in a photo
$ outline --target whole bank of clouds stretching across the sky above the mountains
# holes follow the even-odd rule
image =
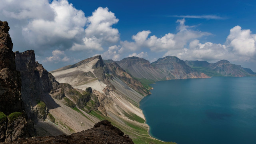
[[[216,44],[200,42],[211,33],[185,24],[185,18],[224,19],[216,15],[173,15],[182,18],[176,21],[175,33],[156,36],[150,30],[141,30],[131,40],[121,40],[119,30],[114,28],[119,19],[108,8],[98,7],[85,16],[68,0],[1,0],[0,12],[0,19],[11,27],[14,49],[34,49],[39,61],[52,66],[71,64],[94,54],[113,60],[138,56],[152,61],[170,55],[183,60],[256,62],[256,34],[250,30],[234,26],[226,42]]]

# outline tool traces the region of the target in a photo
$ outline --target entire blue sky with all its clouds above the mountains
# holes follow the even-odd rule
[[[13,51],[48,71],[100,54],[229,60],[256,72],[255,0],[1,0]]]

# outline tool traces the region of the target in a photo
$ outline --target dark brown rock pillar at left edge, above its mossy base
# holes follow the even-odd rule
[[[23,112],[20,72],[16,71],[7,22],[0,21],[0,112]]]

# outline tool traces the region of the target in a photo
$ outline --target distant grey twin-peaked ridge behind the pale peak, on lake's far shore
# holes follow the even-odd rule
[[[193,70],[176,56],[159,58],[151,64],[148,60],[135,56],[124,58],[116,63],[134,78],[145,83],[172,79],[209,78],[209,76]]]

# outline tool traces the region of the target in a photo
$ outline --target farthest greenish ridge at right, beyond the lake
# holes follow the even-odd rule
[[[209,76],[255,76],[249,68],[243,68],[240,65],[231,64],[228,60],[220,60],[214,64],[210,64],[206,61],[185,61],[190,67],[195,70],[204,72]]]

